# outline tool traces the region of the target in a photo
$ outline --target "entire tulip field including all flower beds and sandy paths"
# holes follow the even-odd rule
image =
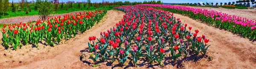
[[[116,6],[4,25],[0,68],[255,68],[253,11],[197,8]]]

